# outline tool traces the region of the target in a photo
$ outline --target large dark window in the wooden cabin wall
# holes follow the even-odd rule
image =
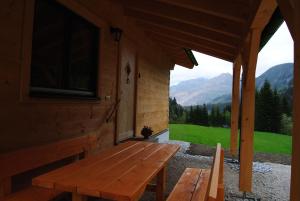
[[[98,27],[54,0],[37,0],[30,94],[96,97],[98,46]]]

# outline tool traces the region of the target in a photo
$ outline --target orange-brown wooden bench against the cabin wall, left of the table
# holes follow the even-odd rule
[[[12,177],[66,159],[86,156],[95,147],[96,136],[86,135],[52,144],[31,147],[0,155],[0,201],[48,201],[61,194],[44,188],[29,186],[12,193]],[[59,162],[58,162],[59,161]],[[47,167],[49,169],[49,167]],[[40,171],[40,170],[39,170]],[[31,179],[29,181],[31,183]]]

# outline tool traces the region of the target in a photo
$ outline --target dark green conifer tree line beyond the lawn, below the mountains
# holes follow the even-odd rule
[[[230,127],[231,104],[183,107],[176,98],[169,98],[170,123],[185,123],[213,127]],[[255,130],[291,134],[291,100],[272,89],[265,81],[255,94]]]

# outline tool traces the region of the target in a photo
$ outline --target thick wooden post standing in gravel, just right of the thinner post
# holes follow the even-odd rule
[[[254,109],[255,109],[255,70],[260,44],[260,29],[252,29],[248,46],[244,50],[243,63],[244,79],[242,93],[242,133],[240,157],[240,191],[252,191],[252,162],[254,138]]]

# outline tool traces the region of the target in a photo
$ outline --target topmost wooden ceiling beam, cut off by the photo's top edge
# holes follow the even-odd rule
[[[199,11],[218,16],[227,20],[245,23],[249,17],[249,7],[244,2],[235,0],[157,0],[170,5],[180,6],[193,11]]]

